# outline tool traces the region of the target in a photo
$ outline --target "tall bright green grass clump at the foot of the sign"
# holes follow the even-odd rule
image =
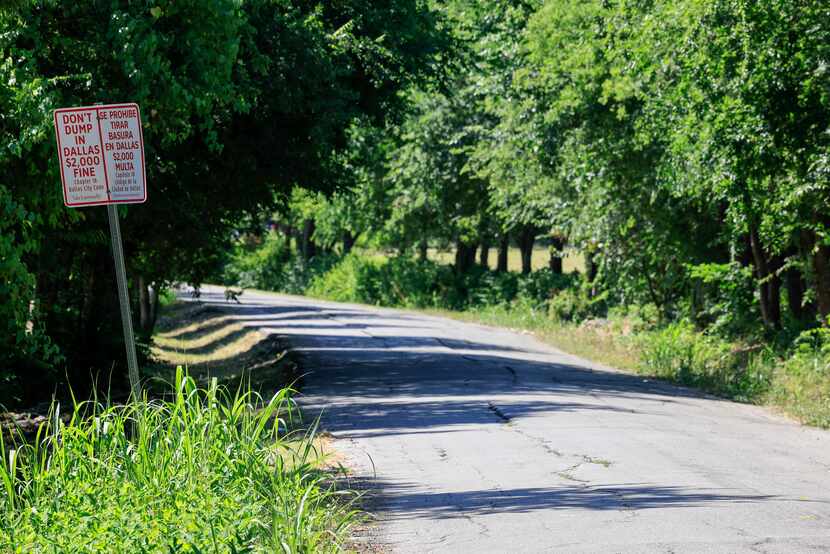
[[[313,432],[287,433],[288,389],[231,394],[179,369],[166,399],[61,416],[0,437],[0,552],[327,552],[354,520]]]

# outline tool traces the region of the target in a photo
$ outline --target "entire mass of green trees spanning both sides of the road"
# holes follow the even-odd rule
[[[145,339],[167,284],[219,278],[576,323],[645,310],[678,344],[779,356],[830,316],[821,2],[11,6],[5,402],[120,359],[103,213],[60,205],[51,139],[50,110],[96,101],[145,118],[151,200],[122,213]],[[356,244],[396,256],[343,258]],[[522,279],[556,277],[520,294],[507,252],[530,274],[539,244],[549,269]],[[558,277],[572,252],[580,276]]]

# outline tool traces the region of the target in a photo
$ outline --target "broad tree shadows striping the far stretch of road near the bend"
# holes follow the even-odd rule
[[[662,415],[666,405],[705,396],[570,363],[526,337],[505,344],[514,337],[506,331],[469,327],[470,339],[459,338],[468,326],[439,318],[261,302],[234,305],[232,313],[234,322],[292,346],[305,375],[306,406],[323,410],[326,429],[341,436],[500,425],[580,411]]]

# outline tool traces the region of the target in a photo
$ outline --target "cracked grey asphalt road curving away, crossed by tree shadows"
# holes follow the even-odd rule
[[[224,302],[207,287],[203,300]],[[246,292],[393,552],[830,552],[830,433],[533,337]]]

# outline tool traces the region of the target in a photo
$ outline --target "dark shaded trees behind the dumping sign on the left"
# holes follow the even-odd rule
[[[146,340],[165,286],[204,280],[292,186],[335,188],[353,124],[398,118],[449,51],[422,0],[0,8],[0,403],[64,376],[83,393],[123,359],[105,210],[63,207],[52,110],[141,107],[149,201],[121,215]]]

